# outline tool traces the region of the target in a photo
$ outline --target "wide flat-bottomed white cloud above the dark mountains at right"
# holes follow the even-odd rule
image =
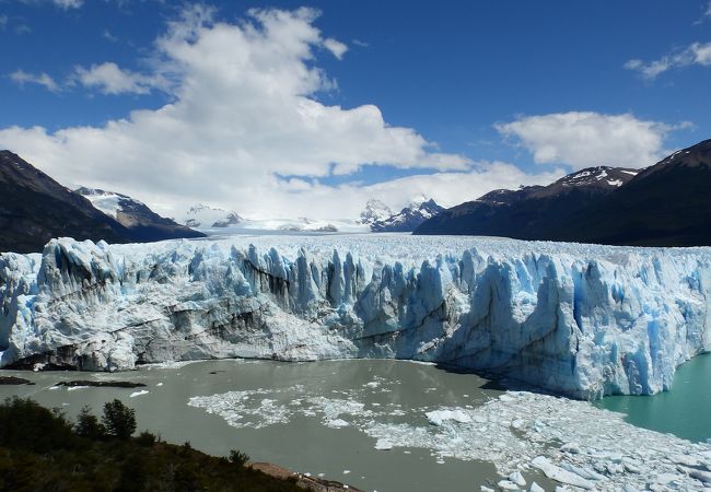
[[[686,124],[685,124],[686,125]],[[673,129],[630,114],[592,112],[521,117],[496,128],[518,139],[538,164],[644,167],[663,156],[664,137]]]

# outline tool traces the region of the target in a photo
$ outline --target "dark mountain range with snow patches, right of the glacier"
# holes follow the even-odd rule
[[[706,140],[640,172],[597,167],[546,187],[492,191],[446,210],[415,233],[711,245],[710,190],[711,140]]]

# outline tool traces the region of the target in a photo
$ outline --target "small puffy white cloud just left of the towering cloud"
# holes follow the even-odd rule
[[[92,65],[89,69],[77,67],[74,79],[82,85],[104,94],[148,94],[151,87],[156,86],[154,78],[123,70],[112,61]]]

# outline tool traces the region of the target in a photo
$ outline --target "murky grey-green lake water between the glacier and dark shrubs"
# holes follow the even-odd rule
[[[139,431],[149,429],[177,444],[187,441],[217,456],[241,449],[254,461],[323,473],[364,491],[470,492],[501,479],[490,462],[441,458],[426,447],[375,449],[377,438],[363,432],[374,422],[433,427],[426,411],[473,408],[502,394],[476,375],[433,365],[392,360],[225,360],[115,374],[2,371],[2,375],[36,385],[0,386],[1,398],[32,397],[72,418],[85,405],[98,414],[105,401],[119,398],[136,409]],[[147,387],[50,389],[60,380],[74,379],[130,380]],[[148,393],[130,396],[142,390]],[[193,401],[199,406],[188,405],[194,397],[203,397]],[[546,490],[555,488],[538,470],[524,476]]]

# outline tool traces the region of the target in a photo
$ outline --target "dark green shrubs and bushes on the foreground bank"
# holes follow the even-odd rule
[[[208,456],[143,432],[119,400],[101,420],[84,408],[75,423],[31,399],[0,405],[0,490],[8,491],[302,491],[246,467],[248,457]]]

